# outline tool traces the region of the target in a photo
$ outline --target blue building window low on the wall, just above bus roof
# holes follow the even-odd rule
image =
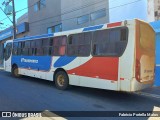
[[[52,27],[49,27],[47,32],[49,33],[56,33],[56,32],[61,32],[62,31],[62,24],[58,24]]]

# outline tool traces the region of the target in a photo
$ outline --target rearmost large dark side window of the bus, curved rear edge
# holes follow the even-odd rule
[[[128,41],[127,28],[113,28],[93,33],[93,55],[121,56]]]

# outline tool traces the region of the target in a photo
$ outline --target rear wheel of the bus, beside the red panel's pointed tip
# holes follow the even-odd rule
[[[69,79],[65,72],[59,71],[55,76],[55,85],[60,90],[65,90],[69,86]]]

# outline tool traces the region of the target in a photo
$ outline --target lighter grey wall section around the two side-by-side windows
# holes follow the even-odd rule
[[[70,30],[109,22],[108,0],[61,0],[62,29]],[[77,24],[77,18],[105,8],[106,17]],[[89,18],[90,19],[90,18]]]

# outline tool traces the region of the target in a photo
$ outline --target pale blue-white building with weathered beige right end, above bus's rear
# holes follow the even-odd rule
[[[134,18],[153,22],[160,19],[160,0],[110,0],[109,4],[110,22]]]

